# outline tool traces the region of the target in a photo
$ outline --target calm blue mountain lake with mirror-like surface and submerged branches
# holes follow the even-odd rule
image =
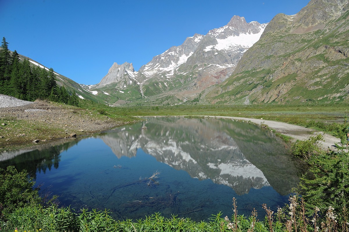
[[[142,129],[146,126],[147,129]],[[223,119],[148,118],[93,137],[0,155],[27,169],[63,205],[110,209],[116,219],[154,212],[207,220],[222,211],[276,210],[298,183],[288,145],[268,130]],[[155,177],[151,178],[153,174]]]

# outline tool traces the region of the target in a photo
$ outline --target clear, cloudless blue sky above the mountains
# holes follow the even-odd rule
[[[114,62],[136,71],[194,33],[234,15],[269,22],[309,0],[0,0],[0,37],[10,50],[83,84],[96,84]]]

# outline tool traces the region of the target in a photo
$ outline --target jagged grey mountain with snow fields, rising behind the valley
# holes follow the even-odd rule
[[[137,86],[142,97],[181,91],[180,97],[194,96],[224,81],[237,62],[258,41],[267,24],[247,23],[233,16],[224,27],[206,35],[195,34],[183,44],[155,56],[138,72],[132,63],[114,63],[102,81],[93,88],[116,88],[127,92]],[[184,92],[186,91],[186,92]]]

